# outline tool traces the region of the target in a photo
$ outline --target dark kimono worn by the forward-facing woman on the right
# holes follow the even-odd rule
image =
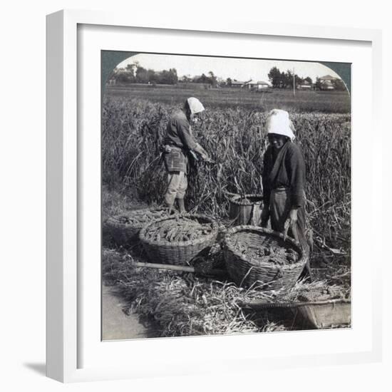
[[[289,218],[292,208],[297,208],[297,235],[293,232],[289,232],[289,235],[298,237],[309,253],[305,237],[305,163],[296,144],[289,140],[280,150],[274,150],[271,145],[267,148],[263,160],[262,182],[264,205],[269,206],[272,229],[284,232],[284,222]]]

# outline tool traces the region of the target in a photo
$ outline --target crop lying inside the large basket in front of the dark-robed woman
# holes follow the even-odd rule
[[[235,249],[252,260],[252,264],[260,265],[272,263],[277,265],[293,264],[298,261],[299,253],[291,248],[277,247],[267,245],[262,247],[254,247],[250,244],[235,244]]]

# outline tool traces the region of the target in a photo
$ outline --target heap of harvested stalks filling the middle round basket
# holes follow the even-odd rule
[[[210,223],[200,223],[187,217],[163,220],[151,225],[145,237],[153,241],[184,242],[212,232]]]

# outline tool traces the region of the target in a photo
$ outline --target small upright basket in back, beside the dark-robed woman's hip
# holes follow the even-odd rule
[[[235,195],[229,199],[229,217],[237,225],[259,225],[263,195]]]

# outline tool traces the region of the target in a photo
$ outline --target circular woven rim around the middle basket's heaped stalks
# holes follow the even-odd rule
[[[159,222],[162,222],[164,220],[172,220],[175,219],[176,217],[195,217],[195,218],[201,218],[203,220],[207,220],[207,222],[212,224],[212,230],[210,234],[203,235],[200,238],[195,238],[195,239],[190,239],[189,241],[181,241],[181,242],[170,242],[170,241],[165,241],[164,239],[161,239],[160,241],[153,241],[152,239],[146,238],[145,234],[148,230],[148,228],[152,225],[155,225]],[[158,220],[155,220],[154,222],[150,222],[147,225],[143,226],[143,228],[139,232],[139,238],[141,242],[144,242],[145,244],[148,245],[158,245],[158,246],[170,246],[170,247],[189,247],[190,245],[197,245],[197,244],[202,244],[202,242],[206,242],[213,237],[217,235],[219,229],[219,225],[217,224],[217,221],[213,219],[212,217],[209,217],[208,215],[203,215],[203,214],[185,214],[185,215],[170,215],[168,217],[163,217]]]

